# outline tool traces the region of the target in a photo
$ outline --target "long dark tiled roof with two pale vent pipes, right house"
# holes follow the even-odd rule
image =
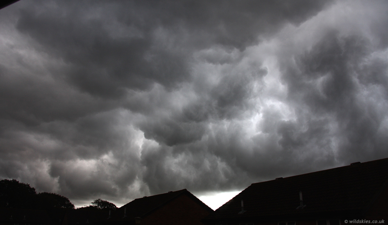
[[[388,158],[253,183],[206,220],[362,213],[387,187]],[[303,209],[299,192],[303,195]],[[244,213],[241,200],[243,200]]]

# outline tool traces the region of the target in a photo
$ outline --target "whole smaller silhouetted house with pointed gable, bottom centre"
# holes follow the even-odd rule
[[[213,212],[186,189],[137,198],[117,210],[100,224],[104,225],[202,225]]]

